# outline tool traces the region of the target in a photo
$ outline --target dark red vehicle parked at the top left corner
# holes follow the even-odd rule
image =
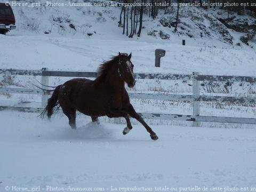
[[[15,18],[12,7],[7,3],[0,3],[0,34],[6,34],[15,29]]]

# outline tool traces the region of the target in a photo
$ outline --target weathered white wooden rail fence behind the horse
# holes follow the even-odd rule
[[[96,77],[95,72],[85,71],[54,71],[42,68],[42,70],[14,70],[0,69],[0,75],[27,75],[41,76],[42,84],[49,85],[49,77]],[[134,74],[137,79],[167,79],[167,80],[182,80],[193,82],[193,95],[178,95],[178,94],[147,94],[147,93],[129,93],[130,98],[136,99],[154,99],[154,100],[171,100],[171,101],[190,101],[193,102],[193,114],[157,114],[157,113],[140,113],[143,118],[150,119],[167,119],[177,121],[193,121],[193,126],[198,126],[199,122],[218,122],[218,123],[241,123],[241,124],[256,124],[256,118],[237,118],[237,117],[217,117],[217,116],[201,116],[199,102],[231,102],[231,103],[255,103],[256,98],[249,97],[220,97],[200,95],[200,81],[220,81],[220,82],[249,82],[256,83],[256,77],[249,76],[218,76],[218,75],[200,75],[194,72],[191,75],[177,74]],[[10,107],[0,106],[0,110],[18,110],[26,112],[39,112],[46,106],[50,92],[39,89],[25,88],[10,88],[0,87],[0,92],[4,93],[22,93],[22,94],[41,94],[42,108],[29,107]]]

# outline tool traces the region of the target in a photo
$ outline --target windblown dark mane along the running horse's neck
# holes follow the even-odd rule
[[[127,53],[122,53],[122,55],[124,56],[128,56]],[[112,56],[110,58],[110,60],[108,61],[104,61],[100,66],[99,68],[97,69],[97,80],[101,80],[103,79],[104,77],[106,77],[106,75],[108,74],[108,71],[111,69],[111,67],[116,63],[118,62],[119,60],[119,55],[116,55],[116,56]]]

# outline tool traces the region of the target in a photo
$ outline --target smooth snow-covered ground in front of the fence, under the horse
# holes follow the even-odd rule
[[[1,112],[0,190],[38,187],[256,187],[255,129],[92,124]],[[222,190],[224,191],[224,190]],[[234,190],[233,190],[234,191]]]

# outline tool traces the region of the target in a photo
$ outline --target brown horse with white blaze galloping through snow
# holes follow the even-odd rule
[[[73,129],[76,129],[76,110],[91,116],[93,122],[97,122],[98,117],[106,115],[110,118],[124,117],[127,122],[124,135],[132,129],[131,116],[145,126],[151,139],[157,140],[156,133],[134,110],[125,90],[125,82],[129,87],[135,85],[131,57],[132,54],[119,53],[102,63],[97,71],[98,77],[94,81],[74,78],[57,86],[45,107],[47,116],[51,117],[53,108],[59,103]]]

